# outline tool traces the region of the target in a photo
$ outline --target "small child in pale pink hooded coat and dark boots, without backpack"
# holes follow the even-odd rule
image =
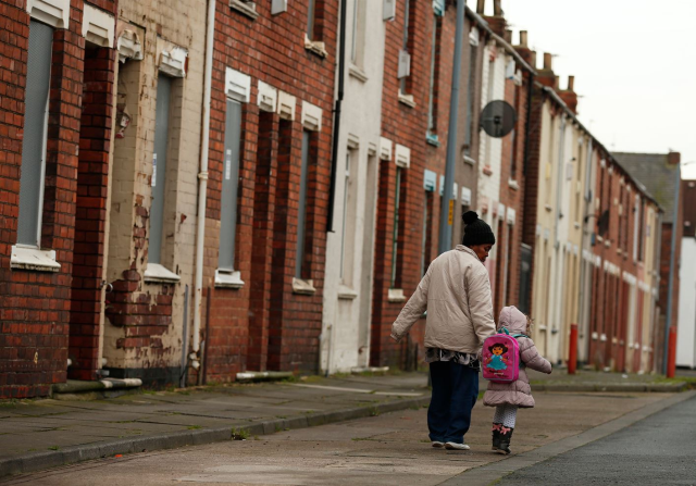
[[[525,369],[551,373],[551,363],[544,359],[529,337],[532,334],[532,320],[520,312],[514,306],[506,307],[500,311],[498,331],[507,328],[510,335],[523,335],[517,337],[520,345],[520,373],[515,382],[495,383],[488,382],[488,388],[483,396],[483,404],[495,407],[493,416],[493,450],[498,453],[510,453],[510,438],[514,431],[518,408],[533,408],[534,398],[530,387],[530,378]]]

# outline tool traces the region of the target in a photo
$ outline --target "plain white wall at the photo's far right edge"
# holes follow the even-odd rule
[[[676,365],[696,367],[696,238],[682,239]]]

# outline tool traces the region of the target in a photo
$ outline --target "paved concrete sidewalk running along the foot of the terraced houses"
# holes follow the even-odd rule
[[[548,377],[534,390],[675,391],[659,377],[609,373]],[[542,382],[544,379],[544,382]],[[0,403],[0,477],[144,450],[273,434],[430,402],[425,373],[308,377],[295,382],[144,391],[110,400]],[[485,381],[481,381],[482,389]]]

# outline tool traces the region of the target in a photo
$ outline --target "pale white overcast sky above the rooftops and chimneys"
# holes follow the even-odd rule
[[[556,55],[561,88],[575,76],[579,117],[608,149],[696,161],[696,0],[502,0],[502,10],[513,43],[529,32],[539,66],[543,52]],[[682,174],[696,178],[696,163]]]

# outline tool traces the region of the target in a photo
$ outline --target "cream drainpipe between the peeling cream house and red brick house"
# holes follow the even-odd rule
[[[200,319],[203,295],[203,245],[206,236],[206,196],[208,192],[208,152],[210,146],[210,99],[213,72],[213,37],[215,35],[215,0],[208,0],[206,32],[206,71],[203,74],[203,128],[198,174],[198,221],[196,228],[196,282],[194,292],[194,340],[191,366],[200,369]]]

